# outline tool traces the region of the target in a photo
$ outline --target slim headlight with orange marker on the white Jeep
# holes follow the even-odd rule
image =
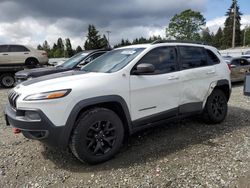
[[[46,100],[46,99],[58,99],[67,96],[71,92],[71,89],[49,91],[44,93],[37,93],[28,95],[24,98],[25,101],[35,101],[35,100]]]

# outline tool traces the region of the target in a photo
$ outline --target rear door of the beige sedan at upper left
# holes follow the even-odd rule
[[[10,59],[12,64],[24,64],[30,57],[30,51],[21,45],[10,45]]]

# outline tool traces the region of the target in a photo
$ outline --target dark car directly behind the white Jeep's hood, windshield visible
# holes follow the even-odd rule
[[[73,69],[80,69],[83,65],[86,65],[90,61],[103,55],[106,52],[106,50],[83,51],[74,55],[73,57],[65,61],[63,64],[56,67],[44,67],[22,70],[15,74],[16,82],[17,84],[19,84],[23,81],[26,81],[27,79],[36,78],[39,76],[45,76],[58,72],[66,72]]]

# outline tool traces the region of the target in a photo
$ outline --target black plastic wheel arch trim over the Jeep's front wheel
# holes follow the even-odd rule
[[[125,137],[131,133],[131,118],[129,109],[125,100],[121,96],[108,95],[94,97],[78,102],[70,112],[64,132],[62,133],[60,139],[63,146],[68,145],[72,131],[75,128],[75,122],[80,114],[94,107],[102,107],[114,111],[123,122]]]

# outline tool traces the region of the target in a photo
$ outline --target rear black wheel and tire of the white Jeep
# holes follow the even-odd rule
[[[208,97],[205,106],[205,117],[209,123],[221,123],[225,120],[228,111],[227,97],[220,90],[215,89]]]

